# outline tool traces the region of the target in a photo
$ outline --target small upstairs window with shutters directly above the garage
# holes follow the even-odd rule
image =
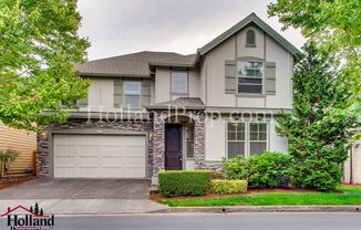
[[[141,82],[124,82],[124,105],[141,107]]]

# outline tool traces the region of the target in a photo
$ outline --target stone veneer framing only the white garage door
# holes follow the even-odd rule
[[[59,129],[74,129],[74,128],[109,128],[118,130],[133,130],[133,132],[153,132],[153,122],[140,122],[140,121],[126,121],[116,123],[106,123],[87,119],[70,119],[64,124],[51,124],[43,132],[38,134],[38,155],[37,155],[37,168],[38,175],[41,177],[49,177],[51,175],[50,169],[50,145],[49,145],[49,133],[51,130]],[[153,171],[153,137],[149,135],[148,139],[148,165],[147,176],[152,176]]]

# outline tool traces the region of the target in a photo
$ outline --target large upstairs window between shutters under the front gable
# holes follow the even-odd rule
[[[238,62],[238,93],[261,94],[262,76],[262,62]]]

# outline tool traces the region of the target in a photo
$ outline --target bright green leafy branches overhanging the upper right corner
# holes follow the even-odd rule
[[[321,52],[329,52],[339,63],[339,75],[351,81],[352,95],[340,113],[361,114],[361,1],[360,0],[278,0],[268,6],[268,13],[277,15],[289,27],[300,28],[308,41]],[[342,83],[340,83],[342,84]]]

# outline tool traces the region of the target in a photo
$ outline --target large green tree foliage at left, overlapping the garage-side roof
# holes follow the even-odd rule
[[[86,95],[74,72],[89,42],[76,0],[0,0],[0,121],[18,128],[64,122]],[[53,113],[44,113],[53,111]]]

